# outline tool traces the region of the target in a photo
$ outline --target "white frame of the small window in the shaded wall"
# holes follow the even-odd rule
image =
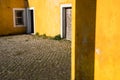
[[[16,17],[15,17],[15,11],[23,10],[23,25],[16,25]],[[25,14],[25,8],[13,8],[13,22],[14,22],[14,27],[26,27],[26,14]]]

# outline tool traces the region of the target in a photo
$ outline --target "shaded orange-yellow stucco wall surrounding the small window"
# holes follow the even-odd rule
[[[25,27],[14,27],[13,8],[24,8],[24,0],[0,0],[0,35],[25,32]]]

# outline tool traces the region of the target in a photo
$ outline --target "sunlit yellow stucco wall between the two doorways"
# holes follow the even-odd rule
[[[35,10],[35,33],[55,36],[60,34],[60,5],[72,0],[28,0]]]

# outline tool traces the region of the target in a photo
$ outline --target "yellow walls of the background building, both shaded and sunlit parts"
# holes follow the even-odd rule
[[[28,7],[35,10],[35,33],[47,36],[60,34],[61,4],[72,4],[72,0],[28,0]],[[13,25],[13,8],[24,7],[24,0],[0,0],[0,35],[26,32],[26,27]]]

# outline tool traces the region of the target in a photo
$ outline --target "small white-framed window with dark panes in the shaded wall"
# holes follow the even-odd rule
[[[25,9],[23,8],[14,8],[13,9],[13,17],[14,17],[14,26],[20,27],[25,26]]]

